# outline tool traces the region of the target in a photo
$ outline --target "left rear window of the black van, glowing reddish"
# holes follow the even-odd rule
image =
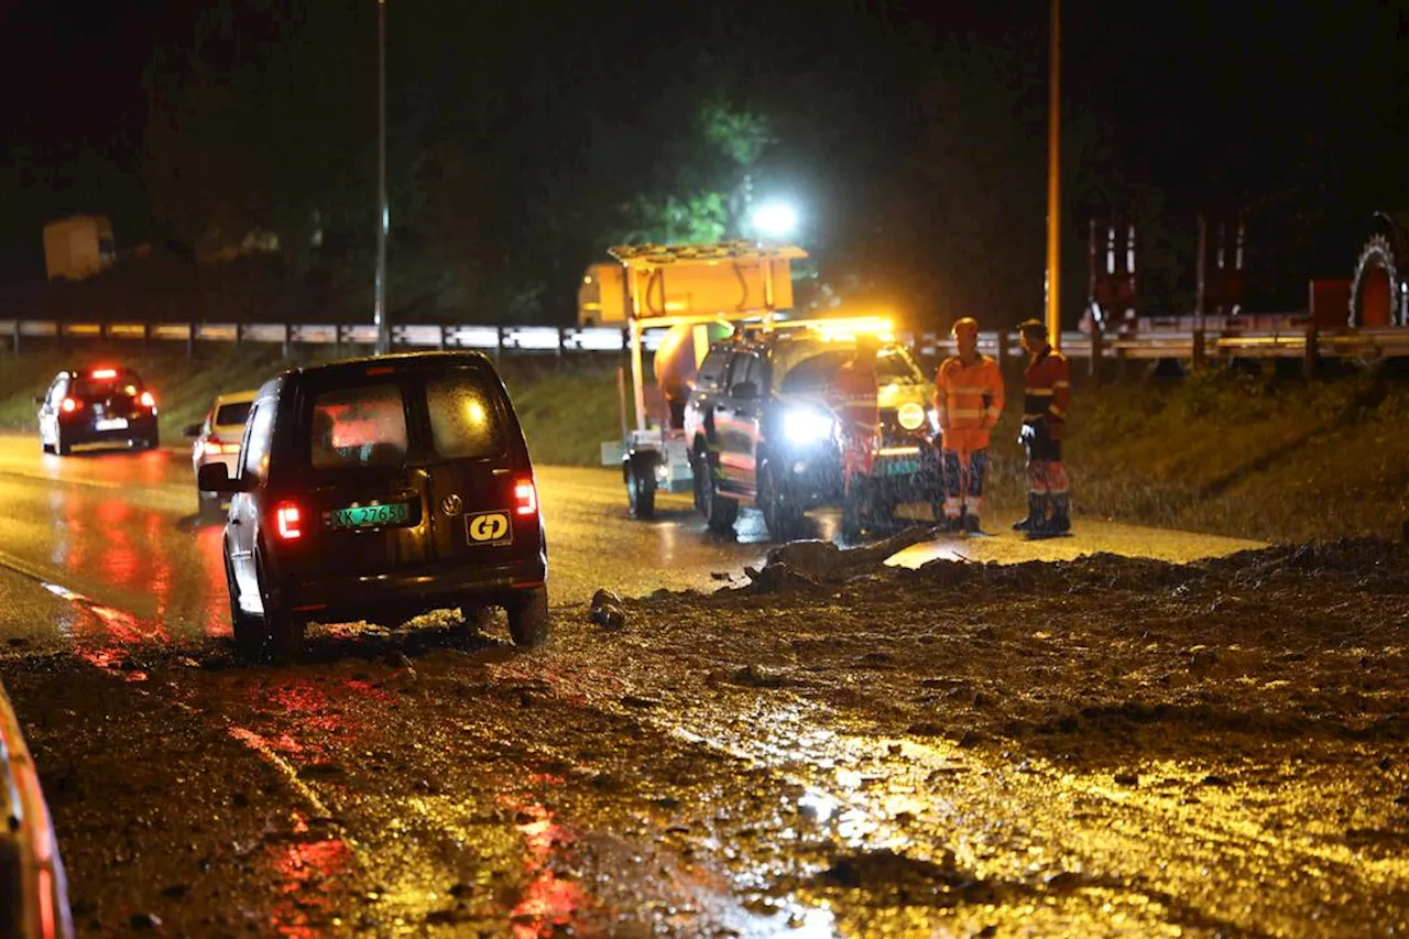
[[[325,391],[313,402],[314,470],[399,467],[406,461],[406,402],[397,385]]]

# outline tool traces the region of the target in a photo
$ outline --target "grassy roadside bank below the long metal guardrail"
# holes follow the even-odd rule
[[[66,365],[123,361],[152,385],[162,438],[180,440],[214,395],[258,385],[292,364],[242,350],[32,350],[0,357],[0,427],[34,427],[34,396]],[[1079,365],[1079,364],[1078,364]],[[621,436],[616,362],[516,360],[502,364],[534,460],[597,465]],[[1179,381],[1076,382],[1067,458],[1078,515],[1271,541],[1399,537],[1409,519],[1409,383],[1367,368],[1305,382],[1272,369],[1205,369]],[[993,437],[988,501],[1023,503],[1016,444],[1022,375]]]

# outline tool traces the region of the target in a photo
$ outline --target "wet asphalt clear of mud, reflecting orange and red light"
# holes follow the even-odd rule
[[[658,496],[654,522],[627,516],[620,477],[610,470],[538,468],[551,557],[554,606],[586,603],[607,587],[623,595],[717,588],[768,550],[761,517],[745,512],[735,539],[704,530],[688,495]],[[995,516],[995,530],[1006,519]],[[816,537],[834,534],[834,513],[812,519]],[[893,563],[933,558],[1022,561],[1115,551],[1192,560],[1253,543],[1082,520],[1079,537],[1029,543],[1014,536],[940,539]],[[0,564],[159,622],[199,643],[230,634],[218,524],[196,517],[186,453],[41,455],[30,437],[0,436]]]

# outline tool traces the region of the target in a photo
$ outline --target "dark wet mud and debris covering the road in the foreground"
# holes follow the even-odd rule
[[[714,594],[10,650],[80,932],[1396,935],[1409,550],[775,551]]]

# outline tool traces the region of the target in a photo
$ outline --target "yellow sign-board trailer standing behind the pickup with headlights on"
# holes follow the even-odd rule
[[[690,492],[695,472],[679,407],[662,402],[659,419],[648,417],[645,333],[674,330],[695,350],[697,367],[709,351],[712,327],[764,323],[792,307],[792,261],[807,252],[795,245],[724,241],[617,245],[609,254],[620,265],[630,358],[630,393],[624,369],[619,372],[623,440],[616,455],[631,515],[652,519],[657,491]],[[662,382],[662,398],[665,391]]]

